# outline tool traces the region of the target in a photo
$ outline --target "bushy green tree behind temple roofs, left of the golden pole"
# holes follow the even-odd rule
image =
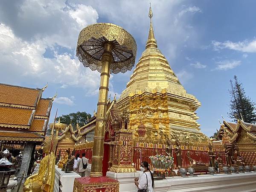
[[[77,111],[76,113],[69,113],[67,115],[58,116],[55,119],[55,122],[58,122],[58,119],[61,118],[61,123],[65,123],[67,125],[70,124],[73,126],[74,130],[76,130],[76,123],[80,125],[80,127],[84,126],[89,122],[89,119],[91,118],[90,113],[86,113],[84,111]],[[49,128],[49,125],[47,127],[46,135],[51,134],[51,129]]]

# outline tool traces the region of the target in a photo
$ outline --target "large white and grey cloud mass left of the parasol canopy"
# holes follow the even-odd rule
[[[80,4],[69,6],[62,0],[52,1],[52,4],[25,0],[17,12],[16,19],[24,25],[24,30],[30,33],[30,38],[26,37],[20,27],[13,26],[5,17],[0,17],[2,82],[19,84],[22,81],[31,81],[44,84],[48,81],[60,84],[61,88],[81,87],[86,95],[98,93],[99,73],[84,68],[73,54],[60,54],[58,49],[55,49],[56,46],[62,46],[65,50],[74,52],[81,26],[96,23],[96,10]],[[33,24],[35,20],[37,26]],[[55,30],[52,30],[52,23]],[[26,29],[25,26],[29,24],[31,26]],[[41,24],[44,24],[44,29],[39,31],[37,28],[41,28]],[[44,56],[48,48],[53,51],[50,58]]]

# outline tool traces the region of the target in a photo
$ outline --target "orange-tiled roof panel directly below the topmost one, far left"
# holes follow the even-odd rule
[[[0,124],[28,125],[31,109],[0,107]]]

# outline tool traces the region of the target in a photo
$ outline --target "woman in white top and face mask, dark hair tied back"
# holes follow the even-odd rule
[[[154,192],[154,177],[148,167],[148,162],[143,161],[140,165],[140,171],[143,171],[143,174],[140,175],[140,178],[135,178],[134,183],[139,188],[138,192]]]

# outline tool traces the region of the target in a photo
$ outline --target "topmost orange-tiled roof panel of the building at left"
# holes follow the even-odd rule
[[[0,84],[0,102],[35,107],[39,92],[37,89]]]

